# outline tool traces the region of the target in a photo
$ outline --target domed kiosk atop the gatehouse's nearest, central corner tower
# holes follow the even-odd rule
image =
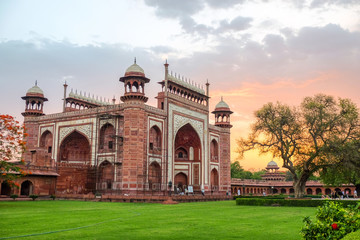
[[[150,79],[145,77],[144,70],[136,64],[136,58],[134,64],[126,69],[124,77],[121,77],[119,81],[124,83],[125,88],[124,96],[120,97],[121,101],[147,102],[145,84],[150,82]]]

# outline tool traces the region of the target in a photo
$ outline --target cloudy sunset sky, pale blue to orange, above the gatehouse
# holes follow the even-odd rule
[[[49,99],[47,114],[62,110],[65,80],[119,102],[118,80],[134,57],[151,79],[150,105],[165,59],[191,81],[208,79],[210,110],[224,96],[234,112],[235,160],[235,140],[247,136],[254,111],[267,102],[298,105],[325,93],[360,106],[360,1],[0,1],[2,114],[23,120],[21,96],[35,80]],[[240,164],[258,170],[271,160],[251,152]]]

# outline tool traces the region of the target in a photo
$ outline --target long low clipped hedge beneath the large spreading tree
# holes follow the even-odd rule
[[[287,206],[287,207],[318,207],[325,201],[336,201],[347,205],[357,205],[359,201],[348,200],[311,200],[311,199],[265,199],[265,198],[237,198],[236,205],[248,206]]]

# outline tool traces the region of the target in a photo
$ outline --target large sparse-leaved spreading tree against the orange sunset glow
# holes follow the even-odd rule
[[[237,152],[258,149],[282,159],[294,180],[295,197],[302,197],[309,177],[341,159],[333,154],[358,138],[357,106],[349,99],[336,101],[318,94],[306,97],[298,108],[268,103],[255,112],[256,122],[247,139],[237,141]]]

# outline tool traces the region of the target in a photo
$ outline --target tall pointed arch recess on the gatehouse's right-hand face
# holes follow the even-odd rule
[[[191,124],[185,124],[176,133],[174,143],[174,168],[175,171],[182,169],[181,171],[185,170],[185,172],[188,173],[188,176],[185,175],[186,184],[184,185],[193,185],[194,190],[199,190],[201,185],[201,146],[200,137]],[[182,176],[179,174],[174,177],[175,184],[179,177]],[[184,181],[184,178],[182,178],[182,181]]]

